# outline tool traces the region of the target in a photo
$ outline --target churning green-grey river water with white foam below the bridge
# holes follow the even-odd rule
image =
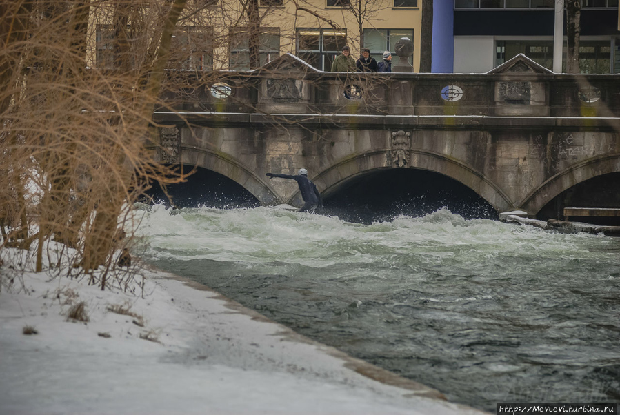
[[[620,400],[620,239],[445,209],[369,225],[268,207],[145,214],[154,265],[450,401]]]

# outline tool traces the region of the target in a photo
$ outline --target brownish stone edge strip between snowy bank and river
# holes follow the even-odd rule
[[[343,367],[348,370],[352,370],[353,372],[361,374],[362,376],[365,376],[372,381],[382,383],[383,385],[398,387],[399,389],[404,389],[405,391],[410,392],[408,394],[403,394],[403,397],[405,398],[430,398],[432,400],[450,403],[446,396],[443,393],[439,392],[439,390],[437,389],[433,389],[432,387],[428,387],[423,383],[404,378],[403,376],[399,376],[398,374],[385,370],[377,365],[373,365],[370,362],[363,361],[362,359],[354,358],[353,356],[350,356],[349,354],[338,350],[336,347],[320,343],[319,341],[314,341],[312,340],[312,338],[304,336],[303,334],[299,334],[298,332],[292,330],[290,327],[287,327],[286,325],[283,325],[281,323],[277,323],[276,321],[272,321],[270,318],[263,316],[263,314],[260,314],[259,312],[252,310],[245,305],[242,305],[241,303],[238,303],[237,301],[228,298],[227,296],[224,296],[220,292],[217,292],[211,287],[208,287],[208,285],[198,283],[197,281],[193,281],[192,279],[179,276],[172,272],[159,270],[157,267],[154,267],[152,265],[148,265],[147,268],[154,274],[159,275],[157,279],[179,281],[183,283],[184,286],[192,288],[194,290],[209,292],[212,295],[210,299],[212,298],[217,301],[223,301],[224,307],[228,308],[228,310],[244,314],[250,317],[252,321],[276,325],[279,328],[279,331],[277,333],[278,336],[285,338],[287,341],[292,341],[295,343],[305,343],[307,345],[317,347],[318,352],[327,354],[328,356],[332,356],[342,361]],[[151,279],[153,280],[152,277]],[[154,279],[154,281],[157,282],[157,279]],[[161,284],[159,284],[159,286],[163,290],[166,290],[166,287],[162,286]],[[488,414],[487,412],[483,412],[480,409],[475,409],[468,405],[463,405],[459,403],[450,404],[454,405],[455,407],[459,407],[468,413],[473,412],[476,414]]]

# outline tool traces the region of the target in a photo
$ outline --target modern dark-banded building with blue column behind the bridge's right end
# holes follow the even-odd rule
[[[433,72],[484,73],[520,53],[552,70],[554,6],[555,0],[435,1]],[[620,73],[618,14],[618,0],[581,0],[581,73]],[[442,39],[450,33],[452,43]]]

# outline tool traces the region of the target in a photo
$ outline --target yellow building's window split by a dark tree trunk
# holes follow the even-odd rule
[[[260,65],[276,59],[280,54],[280,32],[278,28],[260,28],[258,34]],[[231,28],[230,69],[250,69],[250,33],[247,28]]]

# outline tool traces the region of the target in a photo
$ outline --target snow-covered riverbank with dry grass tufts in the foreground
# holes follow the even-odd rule
[[[32,273],[30,294],[3,290],[0,413],[481,413],[204,286],[146,274],[144,298]],[[89,321],[67,321],[81,302]]]

